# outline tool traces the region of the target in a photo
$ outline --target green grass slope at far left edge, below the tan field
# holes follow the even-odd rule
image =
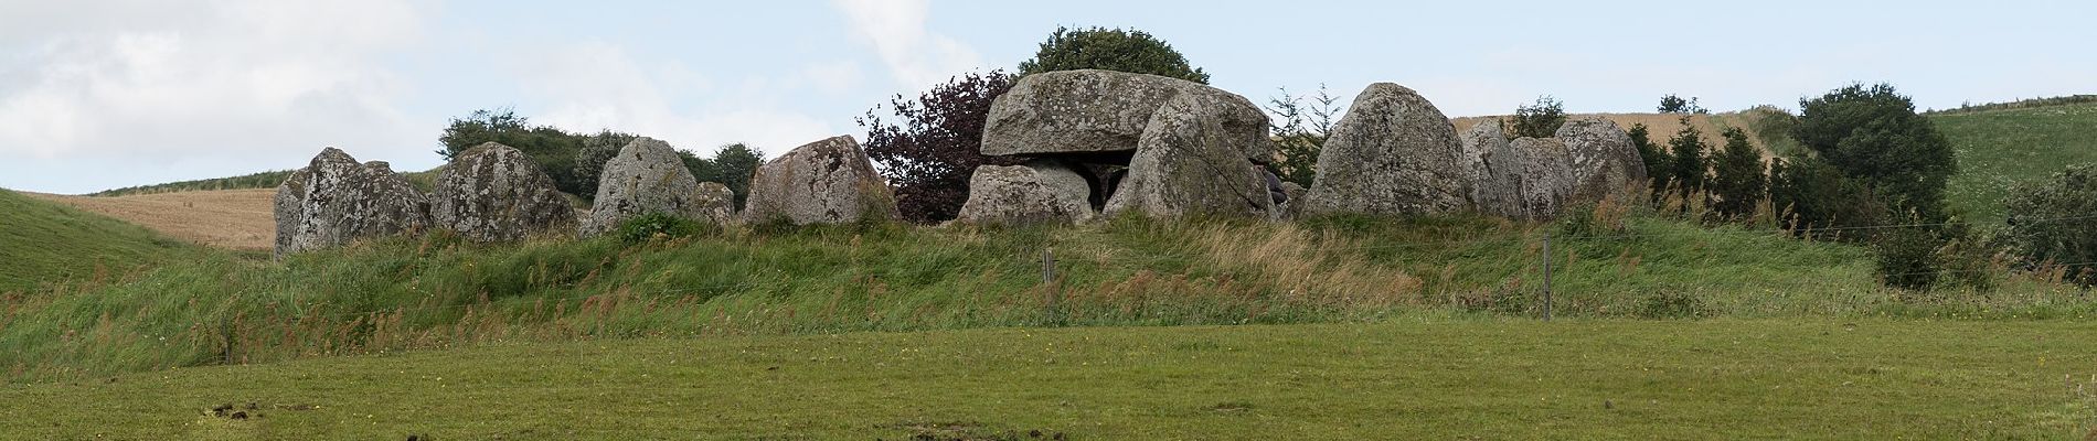
[[[0,293],[122,276],[174,249],[140,226],[0,190]]]

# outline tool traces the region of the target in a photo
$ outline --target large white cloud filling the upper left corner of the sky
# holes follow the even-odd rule
[[[0,15],[0,155],[254,157],[426,144],[375,59],[403,0],[36,2]],[[419,150],[419,148],[415,148]]]

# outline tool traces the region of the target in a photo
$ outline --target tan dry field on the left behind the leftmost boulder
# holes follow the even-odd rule
[[[260,251],[277,245],[275,188],[132,196],[25,194],[117,217],[208,247]]]

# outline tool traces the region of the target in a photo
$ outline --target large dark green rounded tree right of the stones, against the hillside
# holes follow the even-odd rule
[[[1959,159],[1944,134],[1917,115],[1915,102],[1894,86],[1852,84],[1799,100],[1791,136],[1843,176],[1875,188],[1900,213],[1896,217],[1950,217],[1944,184],[1959,169]]]

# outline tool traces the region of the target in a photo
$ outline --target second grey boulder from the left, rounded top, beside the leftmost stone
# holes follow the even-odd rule
[[[459,236],[495,242],[575,226],[575,207],[554,178],[518,148],[466,148],[436,176],[430,219]]]

